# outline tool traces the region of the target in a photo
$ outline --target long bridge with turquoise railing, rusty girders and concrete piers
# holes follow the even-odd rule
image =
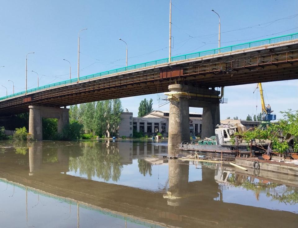
[[[170,100],[169,125],[173,127],[169,129],[169,145],[176,145],[189,138],[183,130],[183,126],[188,125],[188,107],[203,108],[202,136],[211,136],[219,123],[223,87],[297,79],[297,73],[298,33],[293,33],[174,56],[171,61],[167,58],[154,60],[18,92],[0,98],[0,116],[30,110],[29,132],[35,139],[42,140],[39,119],[46,117],[41,113],[46,114],[51,108],[51,118],[61,119],[58,124],[61,130],[68,121],[68,110],[59,110],[60,107],[170,90],[176,95]],[[220,96],[214,87],[222,87]],[[171,118],[174,113],[178,119]]]

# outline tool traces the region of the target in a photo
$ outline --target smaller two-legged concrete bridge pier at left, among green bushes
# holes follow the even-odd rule
[[[69,124],[69,109],[43,106],[29,106],[29,133],[35,140],[43,140],[42,118],[58,119],[57,133]]]

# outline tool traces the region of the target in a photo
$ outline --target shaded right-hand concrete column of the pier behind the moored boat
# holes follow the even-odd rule
[[[214,136],[217,124],[220,124],[219,103],[210,103],[209,107],[203,108],[201,138]]]

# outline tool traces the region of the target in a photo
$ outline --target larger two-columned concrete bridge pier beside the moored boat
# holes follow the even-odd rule
[[[169,85],[169,140],[168,146],[190,139],[189,107],[203,108],[202,138],[214,135],[220,123],[219,91],[183,84]]]

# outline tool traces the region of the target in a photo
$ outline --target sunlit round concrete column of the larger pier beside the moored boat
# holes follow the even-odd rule
[[[169,85],[170,92],[183,92],[183,85]],[[174,95],[170,100],[168,145],[178,145],[190,139],[189,106],[186,98]]]

